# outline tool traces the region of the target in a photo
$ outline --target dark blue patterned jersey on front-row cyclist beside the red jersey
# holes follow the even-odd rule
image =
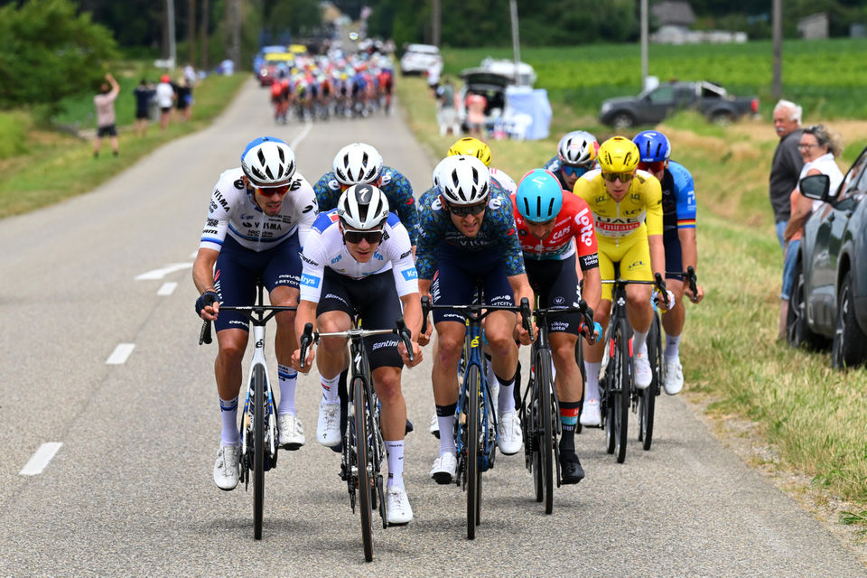
[[[524,273],[524,254],[517,238],[511,199],[499,188],[497,182],[490,184],[488,209],[481,221],[479,234],[467,237],[452,223],[448,211],[443,210],[440,193],[435,188],[424,192],[419,200],[418,247],[415,250],[415,268],[420,279],[433,279],[436,273],[437,253],[445,243],[461,247],[472,258],[473,252],[497,251],[506,266],[506,275]]]

